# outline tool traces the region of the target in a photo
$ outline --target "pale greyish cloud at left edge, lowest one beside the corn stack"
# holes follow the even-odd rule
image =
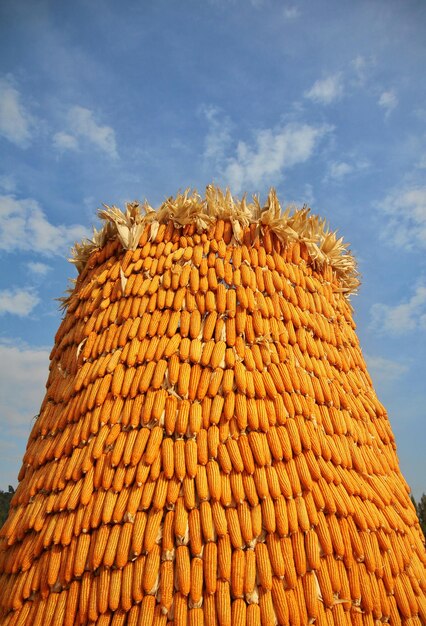
[[[30,426],[45,394],[49,352],[44,348],[0,343],[0,426]]]

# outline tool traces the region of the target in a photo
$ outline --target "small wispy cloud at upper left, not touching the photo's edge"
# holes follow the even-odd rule
[[[53,145],[60,151],[77,150],[80,142],[84,141],[92,144],[110,158],[118,158],[114,129],[98,123],[91,109],[73,106],[68,112],[66,129],[53,135]]]

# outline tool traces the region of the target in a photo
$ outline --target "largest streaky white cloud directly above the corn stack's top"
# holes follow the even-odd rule
[[[319,140],[331,130],[330,126],[310,126],[290,123],[278,129],[259,130],[255,145],[240,141],[235,157],[228,159],[223,178],[234,193],[248,185],[256,188],[269,183],[313,154]]]

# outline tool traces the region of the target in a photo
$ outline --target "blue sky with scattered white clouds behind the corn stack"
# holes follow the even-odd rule
[[[358,336],[426,492],[426,4],[3,0],[0,488],[16,486],[70,246],[103,202],[214,182],[326,217]]]

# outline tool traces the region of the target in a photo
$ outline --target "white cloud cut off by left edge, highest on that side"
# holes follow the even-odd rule
[[[33,121],[11,80],[0,78],[0,135],[21,148],[31,139]]]

